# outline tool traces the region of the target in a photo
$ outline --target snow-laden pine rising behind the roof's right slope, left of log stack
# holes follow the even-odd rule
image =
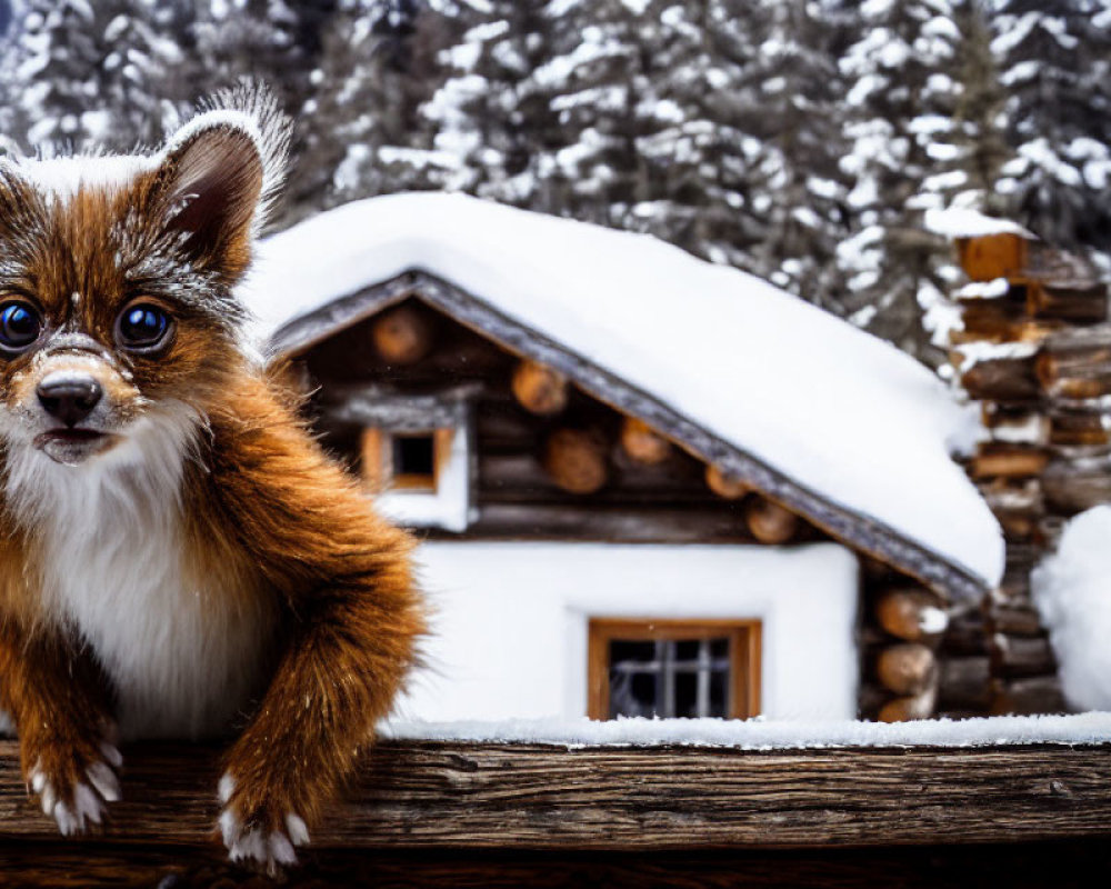
[[[945,287],[938,239],[923,231],[920,196],[951,186],[938,173],[938,140],[950,134],[959,84],[951,76],[961,40],[955,3],[873,0],[861,8],[859,38],[841,58],[852,177],[853,234],[838,248],[852,319],[918,356],[929,352],[923,304]],[[948,144],[948,143],[947,143]],[[945,152],[945,149],[941,149]]]

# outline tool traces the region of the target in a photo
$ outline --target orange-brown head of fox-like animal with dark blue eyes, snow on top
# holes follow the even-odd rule
[[[273,99],[239,90],[150,153],[0,159],[9,462],[126,460],[203,424],[244,360],[234,287],[287,143]]]

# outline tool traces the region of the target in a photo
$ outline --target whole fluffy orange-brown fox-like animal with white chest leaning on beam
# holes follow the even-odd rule
[[[409,537],[244,344],[287,142],[239,90],[151,153],[0,158],[0,710],[29,792],[81,832],[118,738],[233,737],[219,828],[271,869],[424,629]]]

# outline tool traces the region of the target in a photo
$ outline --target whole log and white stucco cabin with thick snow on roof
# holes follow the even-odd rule
[[[326,447],[421,539],[411,719],[990,709],[999,525],[927,369],[647,236],[460,194],[269,239]]]

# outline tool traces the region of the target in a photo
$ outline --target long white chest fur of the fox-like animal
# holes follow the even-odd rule
[[[191,430],[136,431],[79,467],[14,460],[9,496],[31,508],[43,601],[112,680],[123,738],[211,735],[258,690],[273,615],[188,563],[180,485]]]

